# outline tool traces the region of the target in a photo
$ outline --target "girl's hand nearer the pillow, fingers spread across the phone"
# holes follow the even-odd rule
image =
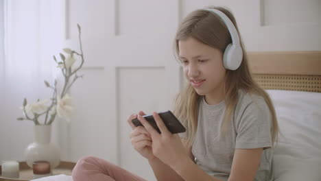
[[[153,113],[153,117],[161,134],[159,134],[141,115],[138,116],[138,119],[152,137],[152,152],[154,156],[172,168],[179,165],[182,160],[189,159],[189,155],[178,134],[171,134],[156,112]]]

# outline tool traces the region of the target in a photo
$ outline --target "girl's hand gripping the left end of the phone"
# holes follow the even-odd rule
[[[139,112],[140,115],[145,115],[143,111]],[[152,137],[150,133],[143,126],[135,126],[132,123],[132,119],[137,118],[136,114],[130,115],[127,122],[132,127],[132,133],[130,134],[130,142],[134,149],[136,149],[141,156],[147,158],[147,160],[153,159],[154,154],[152,152]]]

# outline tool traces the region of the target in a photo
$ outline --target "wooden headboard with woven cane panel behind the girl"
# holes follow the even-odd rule
[[[321,51],[249,52],[248,61],[262,88],[321,93]]]

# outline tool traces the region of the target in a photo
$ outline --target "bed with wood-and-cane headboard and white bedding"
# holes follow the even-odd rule
[[[321,51],[252,52],[248,58],[254,80],[273,101],[281,130],[274,180],[321,180]]]

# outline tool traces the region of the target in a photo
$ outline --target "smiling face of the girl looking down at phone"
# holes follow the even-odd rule
[[[204,45],[195,38],[178,42],[179,57],[187,81],[208,104],[217,104],[224,97],[226,69],[222,52]]]

